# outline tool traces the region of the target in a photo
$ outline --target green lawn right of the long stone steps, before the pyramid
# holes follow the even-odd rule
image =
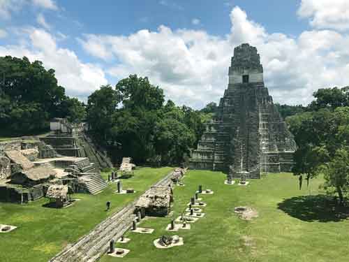
[[[225,175],[218,172],[191,170],[185,187],[174,189],[174,215],[177,217],[193,196],[198,184],[214,190],[202,195],[207,203],[206,216],[190,231],[168,233],[168,218],[149,218],[141,226],[155,228],[151,235],[128,232],[131,249],[123,259],[103,256],[101,261],[264,261],[264,262],[335,262],[349,259],[349,220],[340,219],[332,206],[319,195],[320,178],[301,191],[292,174],[269,174],[251,180],[247,187],[223,184]],[[327,204],[326,204],[327,203]],[[252,221],[239,219],[233,212],[239,205],[258,210]],[[184,246],[156,249],[153,240],[163,234],[178,234]],[[247,242],[244,239],[249,239]]]

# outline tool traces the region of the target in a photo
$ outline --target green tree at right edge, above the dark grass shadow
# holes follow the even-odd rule
[[[325,187],[336,191],[341,201],[344,184],[349,183],[349,177],[341,175],[349,147],[348,94],[348,87],[319,89],[309,112],[287,118],[298,145],[293,172],[309,177],[325,173]]]

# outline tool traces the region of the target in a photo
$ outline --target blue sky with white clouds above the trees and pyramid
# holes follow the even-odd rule
[[[0,0],[0,56],[43,61],[82,101],[137,74],[177,105],[218,103],[242,43],[274,102],[349,85],[348,0]]]

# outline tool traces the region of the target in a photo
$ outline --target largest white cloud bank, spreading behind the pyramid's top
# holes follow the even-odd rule
[[[117,61],[107,73],[147,75],[168,98],[195,108],[223,95],[232,50],[246,42],[258,48],[274,101],[306,104],[318,88],[348,85],[348,35],[331,30],[304,31],[295,38],[270,34],[239,7],[230,20],[226,37],[161,26],[128,36],[87,34],[80,43],[95,57]]]

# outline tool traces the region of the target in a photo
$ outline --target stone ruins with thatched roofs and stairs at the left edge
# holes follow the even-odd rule
[[[96,147],[87,143],[77,147],[76,141],[86,140],[80,129],[63,129],[68,133],[61,129],[43,137],[0,142],[0,201],[34,201],[45,196],[52,184],[66,185],[75,193],[89,194],[98,194],[107,187],[100,173],[101,161],[91,162],[99,155]],[[66,201],[63,202],[65,205]]]

